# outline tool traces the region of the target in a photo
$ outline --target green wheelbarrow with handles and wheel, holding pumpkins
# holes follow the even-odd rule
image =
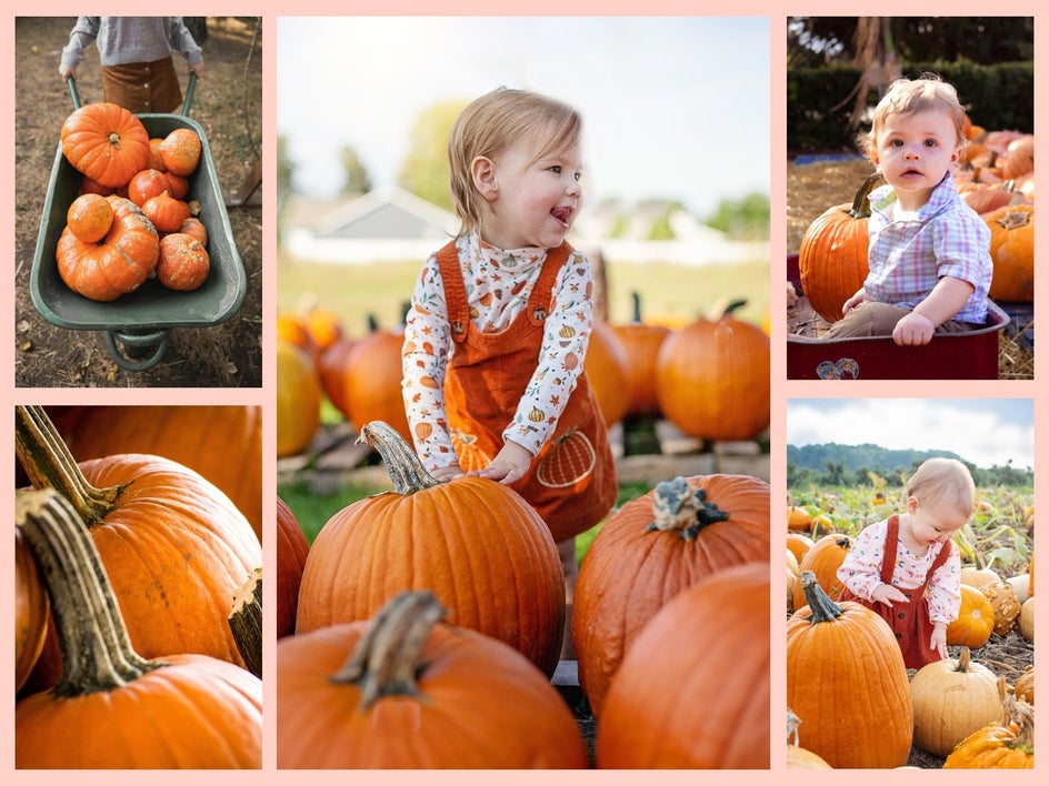
[[[187,200],[200,203],[198,216],[208,230],[211,269],[197,290],[169,290],[150,276],[134,292],[108,303],[84,298],[61,280],[54,260],[69,205],[80,194],[82,175],[66,160],[59,143],[48,184],[30,274],[33,305],[44,320],[69,330],[104,331],[113,360],[123,369],[144,371],[156,365],[174,328],[208,328],[230,319],[243,302],[247,275],[226,211],[211,148],[203,128],[188,117],[197,74],[190,73],[181,114],[138,114],[150,139],[188,128],[200,137],[200,164],[189,178]],[[73,109],[80,107],[76,82],[69,80]]]

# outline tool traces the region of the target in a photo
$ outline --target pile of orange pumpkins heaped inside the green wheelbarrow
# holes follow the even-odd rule
[[[186,201],[201,140],[188,128],[150,139],[136,115],[111,103],[87,104],[61,130],[62,153],[83,174],[67,212],[56,261],[62,281],[109,302],[154,275],[191,291],[208,278],[208,232]]]

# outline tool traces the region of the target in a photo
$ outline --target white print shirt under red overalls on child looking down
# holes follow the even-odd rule
[[[881,584],[881,563],[886,554],[888,521],[880,521],[865,527],[852,547],[846,554],[838,578],[857,596],[867,601]],[[951,542],[930,547],[925,554],[915,554],[903,545],[902,538],[896,547],[896,565],[892,568],[892,586],[900,590],[915,590],[925,584],[926,574],[940,548],[951,548]],[[961,607],[961,560],[951,551],[947,561],[929,578],[927,592],[929,598],[929,619],[951,623],[958,618]]]

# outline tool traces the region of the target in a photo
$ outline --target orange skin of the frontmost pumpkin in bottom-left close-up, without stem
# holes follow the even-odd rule
[[[262,683],[201,655],[163,662],[116,691],[71,698],[43,692],[19,702],[16,767],[261,768]]]

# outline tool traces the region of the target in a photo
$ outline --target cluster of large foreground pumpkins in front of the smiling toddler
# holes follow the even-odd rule
[[[278,503],[278,766],[588,766],[550,684],[559,535],[501,484],[437,483],[389,424],[362,439],[393,492],[312,544]],[[571,624],[598,767],[769,766],[768,557],[753,477],[679,477],[609,517]]]

